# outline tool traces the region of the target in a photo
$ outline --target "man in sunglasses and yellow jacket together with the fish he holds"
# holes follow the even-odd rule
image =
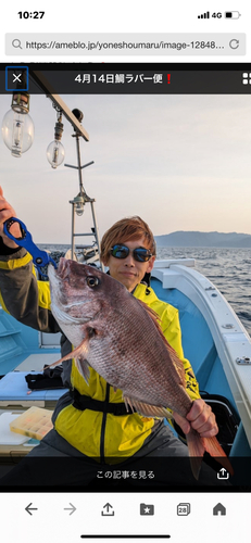
[[[3,223],[15,216],[0,190],[0,302],[23,324],[63,331],[60,362],[70,387],[57,404],[54,429],[28,456],[86,458],[83,484],[97,477],[97,462],[131,469],[143,457],[166,458],[160,483],[218,484],[204,464],[199,477],[204,451],[231,468],[215,438],[214,414],[184,357],[178,311],[146,283],[155,260],[148,225],[136,216],[104,233],[101,260],[109,275],[61,258],[58,270],[49,266],[49,287],[36,280],[29,254],[4,236]],[[18,225],[12,228],[17,238]],[[188,446],[164,417],[175,419]],[[177,458],[189,455],[191,470],[189,463],[168,470],[171,458],[177,467]]]

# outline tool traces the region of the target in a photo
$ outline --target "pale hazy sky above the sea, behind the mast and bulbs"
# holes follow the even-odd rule
[[[139,215],[155,236],[176,230],[251,233],[251,101],[249,96],[62,96],[84,113],[84,187],[96,199],[99,233]],[[11,96],[0,97],[0,117]],[[71,243],[78,173],[52,169],[46,150],[55,111],[30,97],[32,148],[13,157],[0,140],[0,185],[37,243]],[[66,164],[77,165],[73,128],[63,118]],[[90,231],[90,205],[76,231]],[[81,240],[84,241],[84,240]],[[87,241],[87,240],[85,240]],[[89,242],[90,240],[88,240]],[[80,239],[79,239],[80,242]]]

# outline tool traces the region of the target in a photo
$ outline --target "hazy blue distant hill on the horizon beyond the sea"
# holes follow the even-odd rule
[[[158,247],[236,247],[251,249],[251,235],[179,230],[164,236],[155,236],[155,242]]]

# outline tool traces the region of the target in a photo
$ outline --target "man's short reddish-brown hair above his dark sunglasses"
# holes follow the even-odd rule
[[[155,241],[153,233],[145,220],[138,216],[125,217],[117,220],[106,232],[101,240],[101,261],[105,264],[110,257],[110,251],[116,243],[125,243],[143,238],[145,245],[150,249],[152,254],[156,254]]]

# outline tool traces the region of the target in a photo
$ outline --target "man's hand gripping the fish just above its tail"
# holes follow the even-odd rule
[[[213,438],[218,432],[215,416],[204,400],[199,399],[192,402],[191,409],[186,418],[177,413],[173,413],[174,420],[181,428],[184,433],[189,433],[190,428],[197,430],[201,438]]]

